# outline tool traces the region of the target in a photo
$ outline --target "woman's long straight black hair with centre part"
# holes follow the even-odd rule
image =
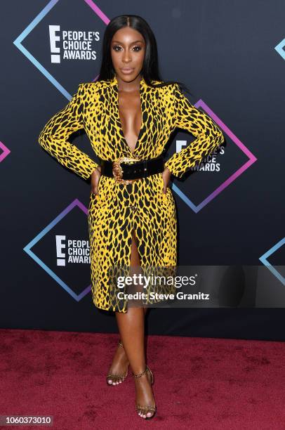
[[[112,63],[111,57],[111,41],[114,34],[124,27],[131,27],[142,34],[145,39],[145,59],[143,62],[143,69],[140,74],[145,79],[147,85],[152,86],[152,88],[157,88],[165,86],[168,84],[178,84],[181,91],[186,91],[190,93],[183,82],[178,81],[164,81],[161,79],[161,74],[159,72],[159,60],[157,53],[157,41],[154,37],[154,33],[150,28],[150,25],[140,17],[139,15],[118,15],[110,20],[107,25],[103,37],[102,43],[102,63],[100,67],[100,73],[96,81],[109,80],[114,77],[115,70]],[[161,81],[161,84],[152,84],[152,80]],[[191,94],[191,93],[190,93]]]

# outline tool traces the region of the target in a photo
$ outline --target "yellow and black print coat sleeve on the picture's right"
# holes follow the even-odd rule
[[[165,163],[174,176],[180,178],[185,171],[201,162],[225,141],[222,131],[213,119],[194,107],[184,96],[178,84],[173,86],[174,128],[190,131],[196,139],[186,148],[175,152]]]

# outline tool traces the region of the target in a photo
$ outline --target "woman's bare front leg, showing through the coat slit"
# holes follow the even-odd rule
[[[135,267],[140,266],[138,248],[135,242],[135,234],[132,236],[131,263],[132,273]],[[130,307],[126,313],[116,312],[117,325],[124,351],[131,365],[133,373],[138,374],[145,370],[145,312],[143,307]],[[154,396],[150,384],[150,374],[145,372],[140,378],[133,378],[135,382],[136,403],[140,405],[153,405]],[[154,412],[147,412],[142,417],[151,417]]]

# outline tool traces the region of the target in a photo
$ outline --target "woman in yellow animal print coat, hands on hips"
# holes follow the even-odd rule
[[[162,154],[176,127],[190,131],[196,140],[164,163]],[[85,129],[100,165],[67,141],[78,129]],[[190,104],[179,83],[161,81],[154,34],[137,15],[110,21],[97,82],[79,84],[72,100],[39,136],[40,145],[63,166],[84,179],[91,177],[93,303],[115,312],[121,337],[107,383],[123,382],[130,365],[136,410],[143,418],[153,417],[156,410],[153,374],[145,359],[145,313],[147,304],[159,300],[128,300],[119,294],[128,290],[117,287],[110,268],[127,266],[133,275],[150,266],[176,265],[171,174],[183,176],[223,140],[216,123]],[[159,287],[159,292],[168,290]],[[143,285],[136,291],[144,292]]]

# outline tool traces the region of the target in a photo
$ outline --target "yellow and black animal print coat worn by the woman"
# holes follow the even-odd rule
[[[152,84],[160,83],[152,81]],[[95,155],[110,161],[120,157],[158,157],[175,127],[189,131],[196,139],[164,163],[177,177],[183,176],[224,141],[216,123],[185,98],[178,84],[155,88],[147,85],[142,77],[140,101],[142,125],[133,152],[121,127],[116,75],[106,81],[79,84],[69,103],[44,126],[39,144],[63,166],[87,179],[98,164],[67,141],[79,129],[85,129]],[[141,268],[176,266],[175,202],[171,188],[167,187],[166,195],[162,193],[163,185],[161,173],[131,184],[101,175],[99,198],[91,193],[88,207],[91,285],[93,303],[98,308],[127,311],[128,300],[118,299],[110,268],[129,267],[133,230]],[[173,292],[171,288],[161,286],[159,292]]]

